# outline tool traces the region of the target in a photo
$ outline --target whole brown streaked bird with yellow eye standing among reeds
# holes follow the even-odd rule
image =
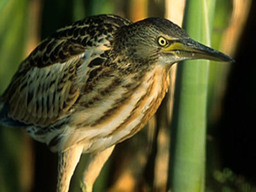
[[[93,15],[58,29],[20,63],[0,97],[0,124],[58,153],[58,192],[90,154],[82,189],[92,192],[115,145],[156,113],[172,65],[197,59],[234,61],[168,19]]]

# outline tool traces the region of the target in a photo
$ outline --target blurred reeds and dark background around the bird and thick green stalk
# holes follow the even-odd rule
[[[132,21],[152,16],[169,18],[169,13],[186,17],[183,10],[175,7],[177,2],[0,0],[0,93],[10,83],[20,61],[56,29],[99,13],[115,13]],[[252,29],[256,27],[256,2],[216,0],[209,10],[214,14],[210,15],[211,46],[230,54],[236,63],[209,65],[206,162],[202,165],[205,166],[204,190],[253,192],[256,191],[253,134],[256,65]],[[190,17],[194,19],[193,15]],[[193,26],[191,21],[190,24]],[[173,159],[169,155],[172,93],[173,87],[147,129],[116,146],[97,179],[95,191],[168,189],[168,161]],[[85,163],[86,155],[72,178],[70,191],[79,191]],[[0,127],[0,191],[55,191],[56,179],[56,154],[33,141],[22,129]]]

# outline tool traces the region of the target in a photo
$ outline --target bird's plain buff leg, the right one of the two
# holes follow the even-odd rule
[[[102,150],[101,152],[97,152],[95,154],[91,154],[90,158],[88,159],[88,164],[84,170],[83,176],[83,192],[92,192],[93,183],[97,179],[100,170],[108,160],[108,157],[113,152],[115,145]]]

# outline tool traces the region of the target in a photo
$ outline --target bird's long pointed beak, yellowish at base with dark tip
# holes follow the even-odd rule
[[[192,40],[191,38],[177,40],[172,42],[172,44],[166,48],[165,51],[170,51],[175,54],[180,60],[213,60],[213,61],[224,61],[224,62],[234,62],[230,56],[207,47],[203,44]]]

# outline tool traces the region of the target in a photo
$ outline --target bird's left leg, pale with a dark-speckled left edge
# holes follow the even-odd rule
[[[70,179],[83,152],[82,146],[74,146],[59,152],[57,192],[67,192]]]

